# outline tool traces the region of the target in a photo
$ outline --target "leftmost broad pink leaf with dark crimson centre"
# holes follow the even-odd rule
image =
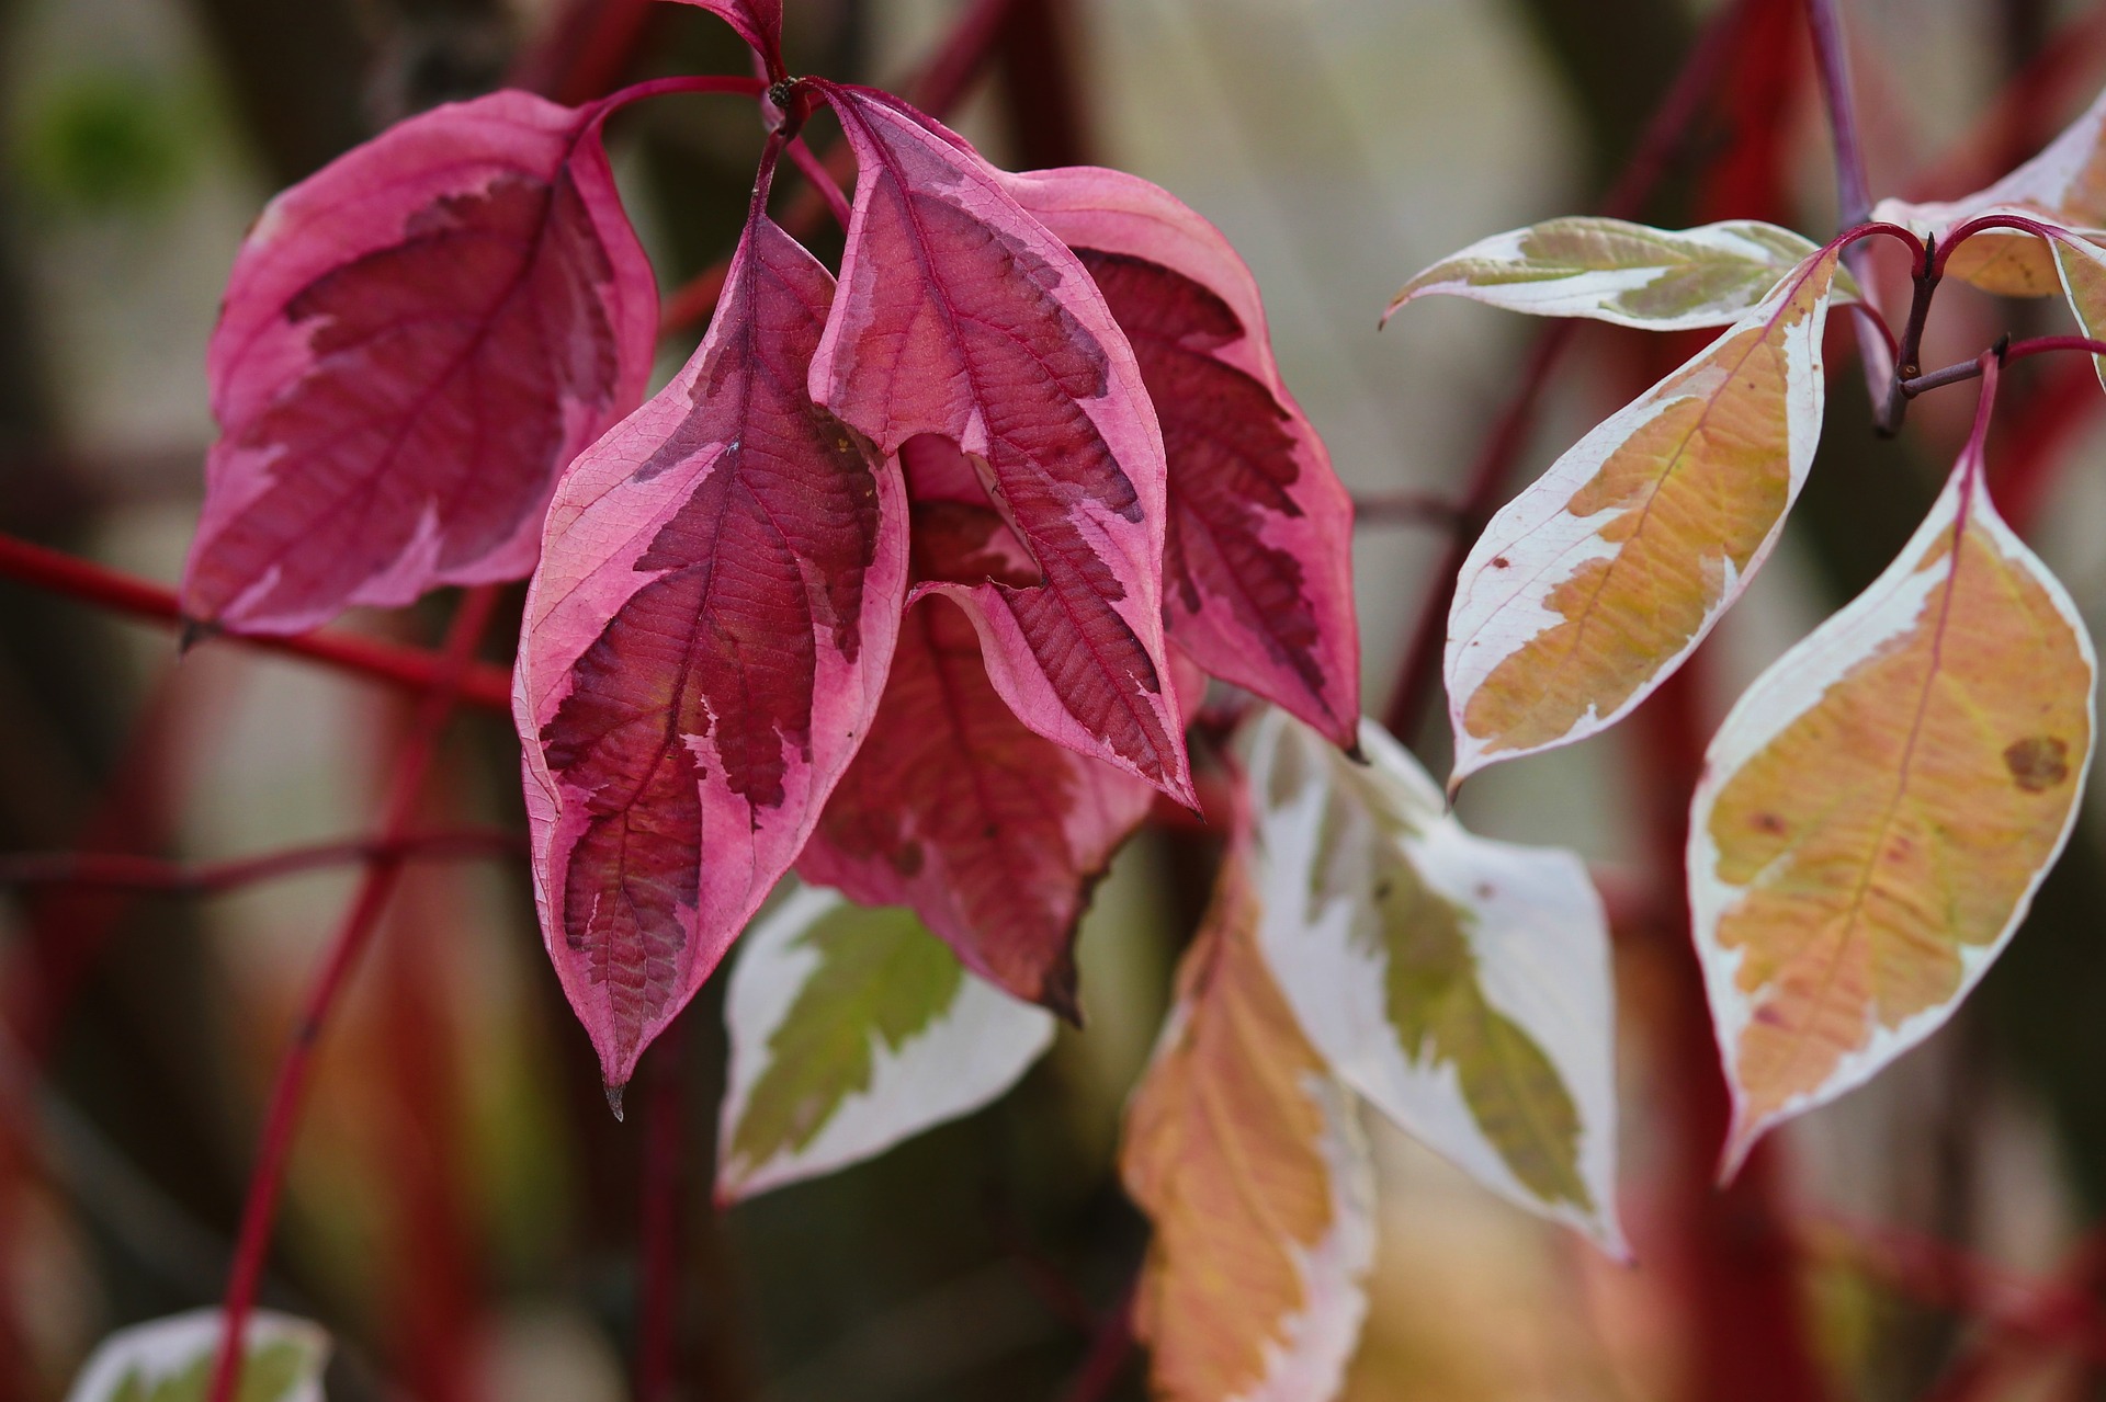
[[[533,568],[556,474],[642,400],[657,337],[602,114],[438,107],[272,200],[206,362],[190,617],[291,634]]]

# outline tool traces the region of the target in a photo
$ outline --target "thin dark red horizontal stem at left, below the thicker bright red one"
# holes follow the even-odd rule
[[[289,846],[234,861],[162,861],[131,853],[17,853],[0,855],[0,886],[101,886],[114,890],[160,890],[219,895],[257,882],[299,876],[320,867],[358,861],[446,861],[459,857],[522,857],[524,840],[495,827],[428,832],[398,838],[350,838]]]

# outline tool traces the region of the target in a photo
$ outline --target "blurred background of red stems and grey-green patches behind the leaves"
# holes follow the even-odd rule
[[[790,0],[792,67],[899,84],[969,8]],[[1843,11],[1874,194],[1973,189],[2106,82],[2095,4]],[[1706,34],[1710,67],[1647,145]],[[649,0],[0,0],[0,533],[173,581],[213,436],[204,343],[263,200],[436,101],[505,80],[575,101],[661,72],[746,72],[746,55],[716,19]],[[1287,379],[1363,497],[1371,709],[1407,669],[1495,429],[1504,499],[1691,352],[1582,328],[1510,417],[1542,324],[1436,299],[1377,333],[1394,286],[1478,236],[1592,208],[1641,149],[1660,158],[1655,223],[1834,227],[1799,0],[1013,0],[977,74],[950,116],[994,160],[1146,175],[1257,272]],[[668,295],[729,251],[758,143],[724,99],[617,118]],[[832,232],[813,244],[838,253]],[[1927,364],[2058,318],[1948,288]],[[661,377],[695,335],[668,337]],[[1382,1255],[1354,1402],[2106,1396],[2098,802],[1950,1027],[1777,1135],[1731,1191],[1710,1183],[1723,1090],[1674,884],[1702,743],[1891,558],[1971,413],[1933,396],[1874,440],[1841,318],[1830,375],[1803,507],[1700,661],[1615,735],[1464,798],[1478,832],[1580,848],[1611,897],[1638,1265],[1373,1124]],[[2098,385],[2041,360],[2011,381],[2001,499],[2100,621]],[[446,608],[343,627],[434,644]],[[358,838],[406,709],[225,642],[177,665],[168,629],[0,581],[0,1402],[55,1400],[110,1328],[217,1301],[286,1029],[358,880],[137,893],[19,857],[219,863]],[[1441,707],[1403,709],[1441,773]],[[419,825],[520,834],[516,762],[503,716],[461,716]],[[1120,857],[1082,935],[1089,1029],[1064,1029],[1013,1095],[722,1215],[720,981],[647,1063],[651,1103],[615,1124],[518,850],[417,863],[322,1046],[265,1303],[337,1333],[337,1402],[613,1402],[632,1396],[640,1246],[672,1231],[663,1398],[1082,1396],[1064,1389],[1089,1360],[1120,1364],[1146,1242],[1116,1183],[1118,1114],[1213,861],[1179,832]],[[678,1149],[682,1210],[647,1231],[651,1137]],[[1089,1396],[1144,1391],[1127,1356]]]

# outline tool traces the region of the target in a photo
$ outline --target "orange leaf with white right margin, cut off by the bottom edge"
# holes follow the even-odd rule
[[[1127,1107],[1120,1170],[1154,1225],[1133,1328],[1158,1402],[1327,1402],[1367,1311],[1367,1145],[1257,949],[1247,848]]]

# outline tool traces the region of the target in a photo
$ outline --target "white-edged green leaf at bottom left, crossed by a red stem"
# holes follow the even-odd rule
[[[219,1356],[219,1309],[120,1328],[101,1341],[65,1402],[206,1402]],[[329,1333],[259,1309],[242,1337],[240,1402],[322,1402]]]

